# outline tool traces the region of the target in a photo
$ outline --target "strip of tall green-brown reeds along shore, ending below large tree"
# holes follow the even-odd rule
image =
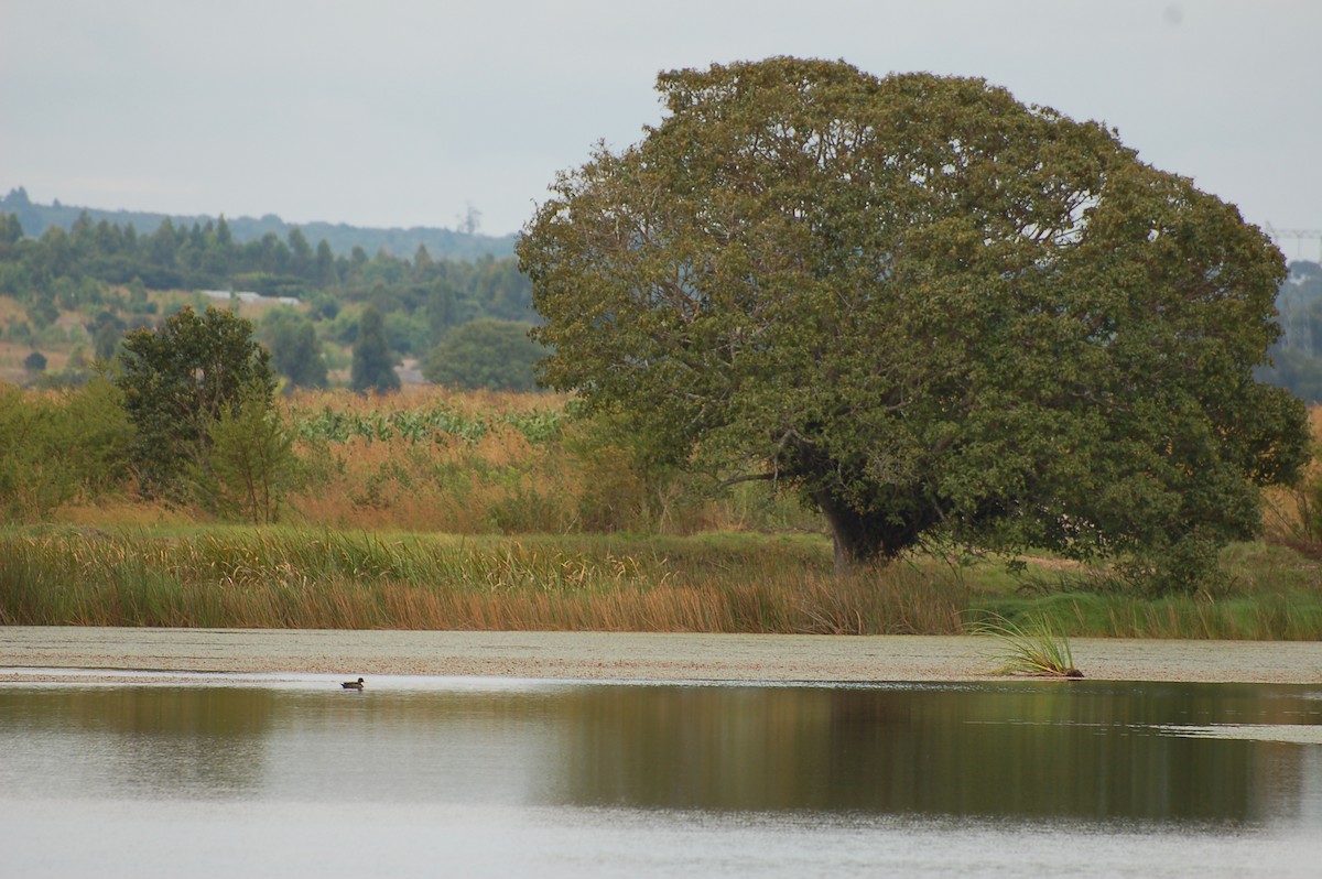
[[[817,542],[89,531],[0,538],[0,624],[956,632],[965,591]]]

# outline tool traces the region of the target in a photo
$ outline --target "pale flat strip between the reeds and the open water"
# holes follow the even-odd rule
[[[1322,683],[1322,642],[1077,638],[1088,678]],[[615,681],[968,681],[988,637],[0,627],[0,683],[120,671],[426,674]],[[82,679],[86,673],[82,671]],[[124,675],[126,678],[130,675]]]

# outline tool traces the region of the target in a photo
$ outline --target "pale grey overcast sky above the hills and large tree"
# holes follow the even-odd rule
[[[504,234],[660,70],[791,54],[982,77],[1322,229],[1319,38],[1314,0],[0,0],[0,194]]]

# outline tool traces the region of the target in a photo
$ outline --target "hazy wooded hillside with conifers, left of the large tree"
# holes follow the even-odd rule
[[[200,291],[255,292],[303,304],[267,315],[259,326],[282,374],[295,385],[324,385],[325,366],[311,373],[304,367],[320,362],[324,342],[353,345],[365,309],[378,315],[374,320],[387,342],[382,356],[395,363],[405,357],[427,358],[459,328],[472,328],[485,338],[496,321],[502,340],[498,365],[517,377],[456,377],[449,362],[438,366],[438,375],[461,385],[531,385],[534,353],[524,350],[530,345],[524,334],[537,323],[537,313],[531,283],[514,256],[432,259],[423,246],[411,259],[385,250],[369,256],[362,247],[338,256],[325,241],[313,247],[299,229],[286,239],[267,233],[241,243],[223,218],[189,227],[165,219],[145,235],[132,225],[94,222],[85,213],[69,231],[49,226],[37,238],[25,233],[17,214],[0,213],[0,296],[22,305],[22,319],[8,319],[0,338],[30,345],[36,353],[85,344],[89,357],[111,360],[127,329],[164,317],[149,291],[194,297]],[[79,326],[69,326],[71,313],[79,316]],[[473,345],[464,334],[451,341],[459,350]],[[41,361],[32,365],[44,369]],[[78,373],[58,381],[85,377]]]

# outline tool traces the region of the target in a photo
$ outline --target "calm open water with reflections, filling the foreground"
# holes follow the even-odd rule
[[[13,876],[1317,875],[1322,686],[0,686]]]

